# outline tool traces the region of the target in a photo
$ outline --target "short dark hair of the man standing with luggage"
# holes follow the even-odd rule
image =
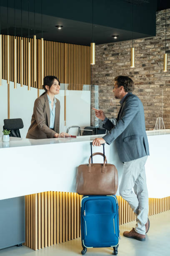
[[[117,76],[115,77],[115,81],[117,82],[118,87],[124,87],[125,92],[133,92],[135,89],[134,82],[130,77]]]

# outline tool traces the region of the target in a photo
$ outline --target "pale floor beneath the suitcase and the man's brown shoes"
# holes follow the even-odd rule
[[[131,222],[120,226],[118,256],[170,256],[170,211],[150,217],[150,230],[145,242],[122,236],[123,231],[130,230],[134,224]],[[14,246],[0,250],[0,256],[77,256],[81,254],[81,249],[81,240],[78,238],[39,251]],[[85,255],[107,256],[112,251],[111,248],[90,248]]]

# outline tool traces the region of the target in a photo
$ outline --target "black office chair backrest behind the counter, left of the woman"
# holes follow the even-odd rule
[[[24,127],[23,120],[21,118],[13,118],[13,119],[4,119],[3,129],[9,131],[10,137],[18,137],[20,136],[20,130]]]

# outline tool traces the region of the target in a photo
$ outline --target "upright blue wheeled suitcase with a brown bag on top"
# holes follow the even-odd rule
[[[119,217],[116,196],[83,196],[80,218],[82,255],[87,248],[93,247],[113,247],[113,254],[117,255]]]

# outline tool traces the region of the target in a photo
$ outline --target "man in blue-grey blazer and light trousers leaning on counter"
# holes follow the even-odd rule
[[[102,143],[111,144],[115,141],[120,161],[124,163],[119,193],[136,215],[136,225],[123,236],[145,241],[145,233],[149,230],[148,219],[148,189],[146,185],[145,163],[149,155],[148,139],[145,131],[145,116],[143,104],[132,94],[133,80],[129,77],[115,77],[114,94],[120,100],[120,110],[117,123],[106,118],[102,110],[95,109],[97,118],[103,121],[107,133],[103,138],[96,138],[93,146]]]

